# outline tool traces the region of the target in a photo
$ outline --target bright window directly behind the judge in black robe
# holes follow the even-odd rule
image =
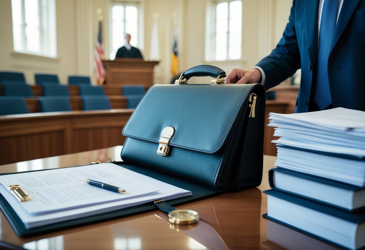
[[[116,51],[126,41],[126,34],[131,35],[130,44],[138,47],[138,8],[137,5],[116,3],[111,9],[111,50],[109,58],[115,58]]]

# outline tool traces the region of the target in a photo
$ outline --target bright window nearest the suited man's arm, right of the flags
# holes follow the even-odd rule
[[[237,60],[242,54],[242,1],[216,1],[207,16],[213,25],[207,25],[210,32],[205,52],[206,60]]]

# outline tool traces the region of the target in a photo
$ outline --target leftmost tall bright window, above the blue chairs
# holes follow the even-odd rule
[[[57,56],[55,0],[12,0],[14,51]]]

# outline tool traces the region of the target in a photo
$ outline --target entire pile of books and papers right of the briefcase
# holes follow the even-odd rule
[[[264,216],[347,249],[365,247],[365,112],[270,113],[277,168]]]

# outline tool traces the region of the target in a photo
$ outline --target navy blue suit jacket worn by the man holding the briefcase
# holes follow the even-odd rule
[[[293,0],[289,23],[272,53],[257,66],[269,89],[301,68],[296,112],[308,112],[316,74],[319,0]],[[331,52],[328,78],[333,108],[365,111],[365,0],[344,0]],[[314,85],[315,86],[315,85]]]

